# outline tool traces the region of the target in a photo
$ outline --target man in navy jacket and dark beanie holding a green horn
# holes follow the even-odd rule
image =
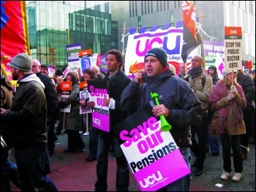
[[[151,92],[158,93],[161,99],[159,105],[154,106],[152,111],[157,117],[164,115],[170,123],[172,126],[170,134],[190,167],[190,125],[200,121],[201,103],[189,83],[170,72],[165,50],[160,48],[148,50],[144,63],[145,69],[135,74],[134,80],[121,94],[121,110],[126,112],[140,110],[152,100]],[[144,82],[143,85],[141,82]],[[187,174],[159,191],[189,191],[190,177],[191,175]]]

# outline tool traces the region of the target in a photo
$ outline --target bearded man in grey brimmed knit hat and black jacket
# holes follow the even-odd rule
[[[1,122],[9,123],[11,142],[15,151],[21,191],[58,191],[45,172],[47,151],[47,109],[45,85],[31,73],[31,57],[26,53],[15,55],[11,67],[12,80],[19,87],[10,111],[1,108]]]

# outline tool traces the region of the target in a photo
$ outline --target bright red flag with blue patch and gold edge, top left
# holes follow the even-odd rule
[[[1,69],[10,80],[7,63],[18,53],[30,55],[26,1],[1,1]]]

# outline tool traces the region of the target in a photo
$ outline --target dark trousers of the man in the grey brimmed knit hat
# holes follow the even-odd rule
[[[15,148],[15,160],[21,191],[58,191],[45,173],[45,150]]]

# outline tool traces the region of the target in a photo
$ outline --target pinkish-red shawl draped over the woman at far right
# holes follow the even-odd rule
[[[240,85],[236,86],[236,90],[238,94],[244,98],[244,93]],[[226,86],[222,84],[222,81],[218,81],[214,86],[214,90],[211,92],[209,96],[209,102],[211,103],[211,110],[215,109],[217,101],[225,98],[229,91]],[[241,107],[238,107],[236,104],[236,99],[232,99],[232,111],[233,111],[233,128],[237,128],[236,124],[243,120],[243,115],[241,111]],[[219,110],[215,110],[214,113],[218,115],[213,115],[211,120],[211,130],[209,135],[219,135],[224,134],[225,127],[227,126],[227,107],[229,104],[220,108]]]

